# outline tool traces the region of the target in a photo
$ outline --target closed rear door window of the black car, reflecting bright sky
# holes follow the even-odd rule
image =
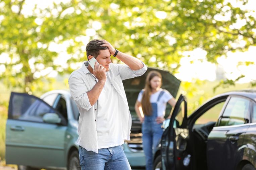
[[[220,119],[219,126],[240,125],[249,122],[250,101],[231,97]]]

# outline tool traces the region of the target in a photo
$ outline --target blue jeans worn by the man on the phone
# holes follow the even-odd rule
[[[98,150],[98,154],[79,146],[81,170],[131,170],[122,147],[115,146]]]

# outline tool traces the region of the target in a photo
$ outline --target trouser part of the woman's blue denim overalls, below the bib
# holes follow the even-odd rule
[[[163,134],[161,125],[162,123],[157,124],[155,119],[145,119],[142,124],[142,144],[146,156],[146,170],[153,169],[153,153]]]

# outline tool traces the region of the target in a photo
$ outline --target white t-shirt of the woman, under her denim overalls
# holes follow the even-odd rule
[[[159,101],[157,102],[158,96],[161,92],[164,92],[161,97],[159,98]],[[142,100],[142,94],[144,91],[141,91],[138,96],[138,101],[141,102]],[[165,109],[166,109],[166,103],[173,98],[172,95],[165,89],[160,89],[156,93],[152,94],[150,96],[150,103],[157,103],[157,116],[158,117],[164,117],[165,115]]]

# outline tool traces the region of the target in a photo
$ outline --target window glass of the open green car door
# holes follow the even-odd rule
[[[43,122],[46,113],[55,113],[45,102],[30,95],[14,95],[11,106],[10,116],[18,120]]]

